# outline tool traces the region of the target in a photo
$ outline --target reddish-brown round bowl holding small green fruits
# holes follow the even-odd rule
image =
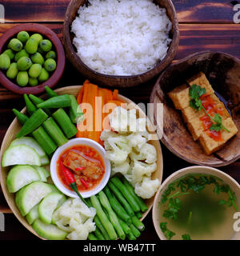
[[[27,23],[27,24],[21,24],[18,26],[14,26],[10,30],[7,30],[6,33],[2,35],[0,38],[0,53],[2,53],[6,49],[7,43],[10,41],[10,38],[13,38],[16,34],[18,34],[19,31],[28,31],[28,32],[34,32],[34,33],[40,33],[43,35],[43,37],[50,39],[50,41],[53,43],[54,50],[57,53],[57,68],[54,70],[54,73],[51,74],[50,78],[43,82],[42,84],[38,86],[25,86],[21,87],[12,82],[9,78],[6,77],[6,74],[4,74],[0,70],[0,83],[2,86],[6,87],[8,90],[12,90],[16,94],[40,94],[45,89],[45,86],[53,87],[55,86],[60,78],[62,77],[64,68],[65,68],[65,53],[64,48],[62,46],[62,42],[58,38],[57,34],[54,33],[53,30],[50,30],[48,27],[36,24],[36,23]]]

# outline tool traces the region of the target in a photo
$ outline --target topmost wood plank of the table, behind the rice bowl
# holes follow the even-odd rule
[[[62,22],[70,0],[3,0],[6,22]],[[179,22],[233,23],[230,0],[173,0]]]

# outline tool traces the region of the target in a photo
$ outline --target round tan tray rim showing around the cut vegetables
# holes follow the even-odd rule
[[[68,86],[63,87],[58,90],[55,90],[58,94],[73,94],[74,96],[77,96],[78,91],[80,90],[82,86]],[[44,97],[44,96],[43,96]],[[122,95],[119,95],[119,99],[121,99],[123,102],[130,103],[129,108],[136,108],[138,110],[140,117],[146,117],[146,114],[130,99],[123,97]],[[26,107],[22,110],[22,113],[26,113]],[[14,121],[10,124],[10,127],[6,131],[5,137],[2,141],[0,156],[2,159],[3,152],[10,146],[10,142],[12,142],[15,138],[15,135],[18,133],[18,131],[21,129],[21,125],[19,124],[17,118],[14,118]],[[150,124],[149,130],[153,130],[152,125]],[[157,170],[152,174],[152,178],[158,178],[160,182],[162,182],[162,169],[163,169],[163,162],[162,162],[162,149],[160,146],[160,142],[158,140],[157,134],[152,134],[153,140],[150,142],[152,145],[155,146],[157,152],[158,152],[158,159],[157,159]],[[49,166],[46,166],[49,168]],[[18,218],[19,222],[22,223],[23,226],[26,227],[27,230],[30,230],[33,234],[41,238],[34,230],[33,228],[26,222],[26,218],[22,217],[22,214],[18,210],[18,207],[15,204],[15,194],[9,193],[6,187],[6,176],[10,170],[10,167],[0,167],[0,182],[2,186],[3,194],[6,198],[6,202],[10,206],[10,209],[14,213],[14,215]],[[49,181],[51,182],[51,180]],[[146,215],[150,212],[151,207],[154,204],[154,197],[147,199],[146,205],[148,206],[148,210],[142,215],[142,220],[146,218]],[[146,227],[147,228],[147,227]]]

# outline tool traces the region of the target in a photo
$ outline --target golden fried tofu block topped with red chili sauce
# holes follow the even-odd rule
[[[206,89],[206,94],[201,97],[202,106],[213,118],[215,114],[219,114],[222,118],[222,125],[230,131],[221,129],[220,139],[212,138],[213,134],[211,134],[210,126],[214,122],[207,118],[205,110],[195,110],[190,106],[190,86],[184,84],[170,91],[169,96],[174,102],[175,108],[181,110],[182,118],[186,122],[194,141],[198,140],[203,150],[209,155],[219,150],[230,138],[237,134],[238,128],[223,102],[214,94],[214,90],[205,74],[200,72],[193,78],[188,79],[187,82],[190,86],[195,84]]]

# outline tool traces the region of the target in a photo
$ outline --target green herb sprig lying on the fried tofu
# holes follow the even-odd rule
[[[214,114],[214,118],[207,113],[204,106],[202,106],[201,96],[206,94],[206,89],[202,88],[201,86],[192,85],[190,86],[189,95],[190,95],[190,106],[195,110],[204,110],[206,115],[210,118],[210,120],[214,123],[211,124],[210,130],[220,131],[221,129],[226,130],[230,133],[230,130],[227,130],[225,126],[222,125],[222,118],[219,114]]]

